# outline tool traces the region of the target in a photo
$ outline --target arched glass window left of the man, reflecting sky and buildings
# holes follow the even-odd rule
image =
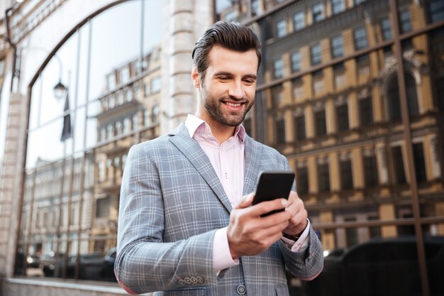
[[[67,36],[38,73],[17,274],[116,280],[126,154],[133,143],[159,134],[162,35],[154,28],[162,24],[161,11],[160,1],[111,6]],[[65,91],[56,98],[52,88],[59,81]]]

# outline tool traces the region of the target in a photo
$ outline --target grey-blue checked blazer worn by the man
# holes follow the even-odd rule
[[[289,170],[277,150],[245,136],[244,194],[262,170]],[[131,148],[121,185],[116,277],[130,293],[154,295],[289,295],[284,266],[299,278],[323,268],[310,229],[296,255],[282,242],[240,264],[213,270],[213,236],[228,226],[231,203],[199,143],[181,124],[173,133]]]

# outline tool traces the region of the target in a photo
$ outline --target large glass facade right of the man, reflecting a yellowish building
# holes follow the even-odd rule
[[[238,11],[262,41],[256,100],[266,104],[253,119],[266,124],[253,121],[252,136],[289,159],[325,250],[318,278],[289,275],[290,295],[444,295],[442,2],[260,1],[254,19]],[[277,38],[268,24],[282,19]]]

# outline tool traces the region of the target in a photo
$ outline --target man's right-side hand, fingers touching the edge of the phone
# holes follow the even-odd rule
[[[307,211],[304,207],[304,202],[294,191],[290,192],[288,202],[289,204],[285,212],[289,212],[291,218],[289,219],[289,225],[283,232],[290,236],[299,236],[308,224]]]

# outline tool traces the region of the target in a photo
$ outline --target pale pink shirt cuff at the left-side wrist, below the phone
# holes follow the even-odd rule
[[[213,268],[216,273],[221,270],[238,265],[238,259],[231,257],[230,246],[228,246],[227,227],[216,230],[213,240]]]

